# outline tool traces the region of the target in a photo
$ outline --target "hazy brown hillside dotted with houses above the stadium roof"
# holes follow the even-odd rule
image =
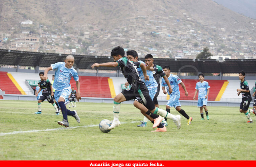
[[[256,21],[211,0],[3,0],[0,48],[109,56],[256,58]]]

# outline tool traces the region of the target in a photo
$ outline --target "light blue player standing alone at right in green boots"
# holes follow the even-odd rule
[[[198,75],[199,82],[196,83],[195,85],[195,95],[193,97],[193,100],[195,100],[195,96],[198,92],[198,102],[197,102],[197,107],[200,107],[200,114],[201,114],[201,120],[204,120],[203,118],[203,109],[206,114],[207,120],[210,119],[208,115],[208,109],[207,109],[207,98],[210,92],[210,86],[209,83],[204,81],[204,75],[200,73]]]

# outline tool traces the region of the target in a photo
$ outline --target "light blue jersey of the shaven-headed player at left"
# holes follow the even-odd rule
[[[55,80],[53,83],[53,89],[56,91],[62,91],[65,89],[71,89],[70,79],[73,76],[75,81],[78,81],[79,77],[74,67],[67,68],[65,62],[57,62],[51,64],[55,71]]]

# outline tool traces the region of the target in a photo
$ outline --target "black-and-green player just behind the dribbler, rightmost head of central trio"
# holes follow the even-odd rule
[[[158,87],[157,87],[157,92],[156,92],[156,94],[154,96],[153,102],[154,102],[156,107],[159,107],[158,101],[157,101],[157,97],[158,97],[159,91],[160,91],[160,83],[159,83],[160,76],[164,78],[165,82],[167,83],[167,85],[169,87],[169,90],[171,90],[171,86],[169,84],[169,81],[168,81],[168,79],[167,79],[167,77],[166,77],[162,67],[159,66],[159,65],[153,64],[154,59],[153,59],[153,56],[151,54],[147,54],[145,56],[145,62],[146,62],[147,65],[149,65],[150,67],[153,67],[153,69],[154,69],[152,71],[152,73],[153,73],[154,79],[157,81]],[[143,121],[141,121],[141,122],[142,122],[142,124],[137,125],[138,127],[145,127],[145,126],[147,126],[147,122],[148,122],[147,117],[144,117]],[[168,124],[166,122],[166,126],[167,125]]]

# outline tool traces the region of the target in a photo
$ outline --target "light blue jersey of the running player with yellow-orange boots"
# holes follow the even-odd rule
[[[172,93],[171,94],[172,95],[175,94],[175,95],[180,96],[179,83],[182,82],[181,79],[177,75],[170,74],[170,76],[168,77],[168,80],[169,80],[170,85],[172,87]],[[167,86],[167,83],[165,82],[164,78],[162,78],[161,86],[166,87],[168,95],[171,95],[169,93],[169,87]]]

